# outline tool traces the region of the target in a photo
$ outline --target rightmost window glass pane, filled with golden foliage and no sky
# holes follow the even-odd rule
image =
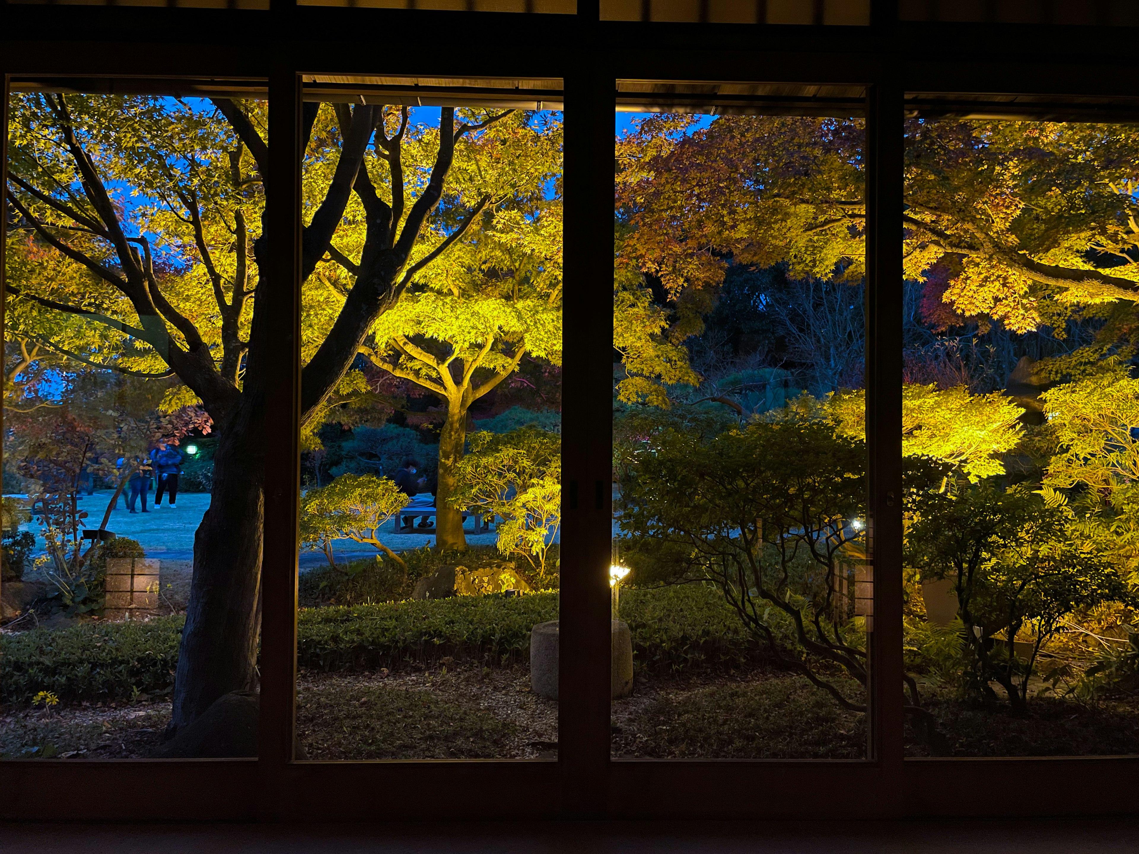
[[[1136,753],[1139,133],[906,139],[909,755]]]

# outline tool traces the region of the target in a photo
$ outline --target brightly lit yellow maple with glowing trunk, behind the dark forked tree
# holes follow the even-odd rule
[[[408,165],[401,167],[421,161],[433,129],[409,131],[407,109],[391,108],[388,121],[413,140]],[[399,302],[360,346],[374,366],[442,403],[435,503],[436,548],[443,550],[466,548],[461,510],[451,495],[472,405],[515,373],[526,356],[551,366],[562,361],[560,116],[516,110],[486,121],[478,146],[454,176],[460,189],[477,176],[482,194],[467,214],[466,232],[431,266],[409,273]],[[392,169],[391,161],[384,164]],[[326,311],[359,272],[351,257],[366,217],[352,214],[350,210],[334,236],[330,258],[338,269],[319,270],[309,282],[321,297],[308,302]],[[325,293],[329,289],[335,293]],[[317,325],[313,334],[319,332]]]

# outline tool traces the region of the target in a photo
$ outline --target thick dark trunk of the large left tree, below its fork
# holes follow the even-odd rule
[[[194,536],[170,734],[222,695],[256,688],[265,469],[260,410],[244,399],[220,432],[210,509]]]

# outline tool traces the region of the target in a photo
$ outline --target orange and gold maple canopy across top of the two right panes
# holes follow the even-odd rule
[[[1139,297],[1139,131],[1126,124],[911,118],[903,253],[944,322],[1063,335],[1104,321],[1130,342]],[[662,115],[617,143],[629,256],[670,295],[718,286],[729,263],[798,278],[865,271],[860,121]]]

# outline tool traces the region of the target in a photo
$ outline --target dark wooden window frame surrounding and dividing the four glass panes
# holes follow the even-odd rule
[[[392,39],[390,33],[403,33]],[[1134,812],[1139,757],[904,759],[901,660],[901,122],[906,91],[1139,97],[1108,30],[601,23],[296,7],[271,11],[0,5],[0,72],[268,80],[279,386],[270,395],[259,759],[5,761],[0,819],[895,818]],[[22,34],[26,34],[22,38]],[[431,36],[428,39],[428,35]],[[484,39],[484,54],[439,49]],[[1117,38],[1117,36],[1116,36]],[[386,44],[391,41],[393,47]],[[517,46],[509,48],[503,46]],[[652,47],[648,47],[652,46]],[[293,762],[300,281],[300,74],[560,77],[565,82],[563,659],[559,758]],[[876,568],[871,757],[611,761],[608,657],[612,156],[615,81],[838,83],[867,91],[867,377]],[[6,99],[7,102],[7,99]],[[5,109],[5,122],[7,109]],[[7,131],[7,128],[5,128]],[[5,141],[7,132],[3,133]],[[6,166],[7,159],[0,161]],[[0,166],[2,169],[3,166]],[[2,253],[2,243],[0,243]],[[2,317],[0,317],[2,322]],[[604,417],[598,417],[604,414]],[[598,486],[601,488],[598,488]],[[894,685],[898,688],[891,689]],[[1043,777],[1041,777],[1043,775]],[[1036,780],[1041,782],[1036,782]],[[68,797],[67,814],[48,793]]]

